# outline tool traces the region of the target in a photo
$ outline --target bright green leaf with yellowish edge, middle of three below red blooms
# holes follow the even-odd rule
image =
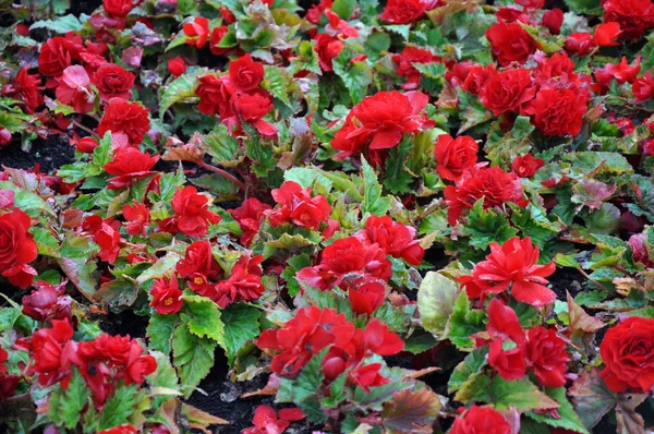
[[[184,311],[182,321],[189,330],[197,337],[208,337],[217,342],[225,341],[225,327],[218,304],[202,296],[183,296]]]

